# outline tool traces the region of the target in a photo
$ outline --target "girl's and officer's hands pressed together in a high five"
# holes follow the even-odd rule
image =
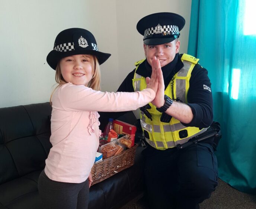
[[[151,102],[156,107],[164,105],[164,79],[159,59],[152,59],[151,78],[146,77],[147,87],[156,92],[155,99]]]

